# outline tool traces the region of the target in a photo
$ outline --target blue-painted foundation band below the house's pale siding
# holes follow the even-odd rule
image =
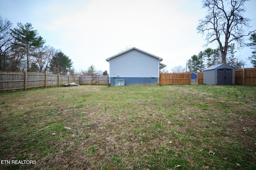
[[[158,80],[157,77],[110,77],[110,86],[115,86],[116,79],[124,79],[126,86],[155,86]]]

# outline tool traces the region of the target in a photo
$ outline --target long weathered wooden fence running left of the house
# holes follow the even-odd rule
[[[58,87],[62,84],[108,84],[108,76],[64,76],[47,72],[0,72],[0,92],[38,87]]]

